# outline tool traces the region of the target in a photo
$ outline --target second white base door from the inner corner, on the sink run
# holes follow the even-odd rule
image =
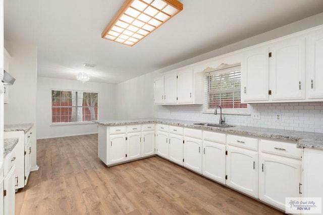
[[[183,166],[183,135],[169,134],[169,159]]]

